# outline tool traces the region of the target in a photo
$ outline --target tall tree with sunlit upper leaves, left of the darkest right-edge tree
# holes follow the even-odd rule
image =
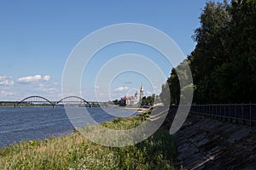
[[[201,27],[195,30],[193,36],[197,44],[189,61],[196,87],[196,102],[212,102],[212,71],[229,60],[225,48],[230,22],[227,8],[226,2],[208,2],[200,16]]]

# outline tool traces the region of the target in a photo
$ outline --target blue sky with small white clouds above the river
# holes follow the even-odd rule
[[[29,95],[61,98],[61,77],[69,54],[91,32],[120,23],[139,23],[165,32],[183,54],[195,48],[191,36],[206,1],[0,1],[0,100]],[[123,42],[102,49],[84,70],[81,93],[95,100],[96,77],[102,65],[120,54],[149,56],[169,77],[172,65],[145,45]],[[104,57],[105,58],[104,58]],[[142,65],[145,66],[145,65]],[[91,80],[90,80],[91,78]],[[127,78],[127,79],[125,79]],[[131,82],[131,83],[126,83]],[[144,83],[147,95],[160,93],[147,77],[126,72],[109,84],[111,99],[131,94]],[[102,94],[108,99],[110,94]]]

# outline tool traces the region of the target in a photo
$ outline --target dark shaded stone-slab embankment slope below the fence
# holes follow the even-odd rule
[[[189,116],[174,134],[183,169],[256,169],[256,127]]]

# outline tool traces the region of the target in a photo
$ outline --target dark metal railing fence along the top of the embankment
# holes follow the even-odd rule
[[[190,113],[250,125],[256,122],[256,104],[191,105]]]

